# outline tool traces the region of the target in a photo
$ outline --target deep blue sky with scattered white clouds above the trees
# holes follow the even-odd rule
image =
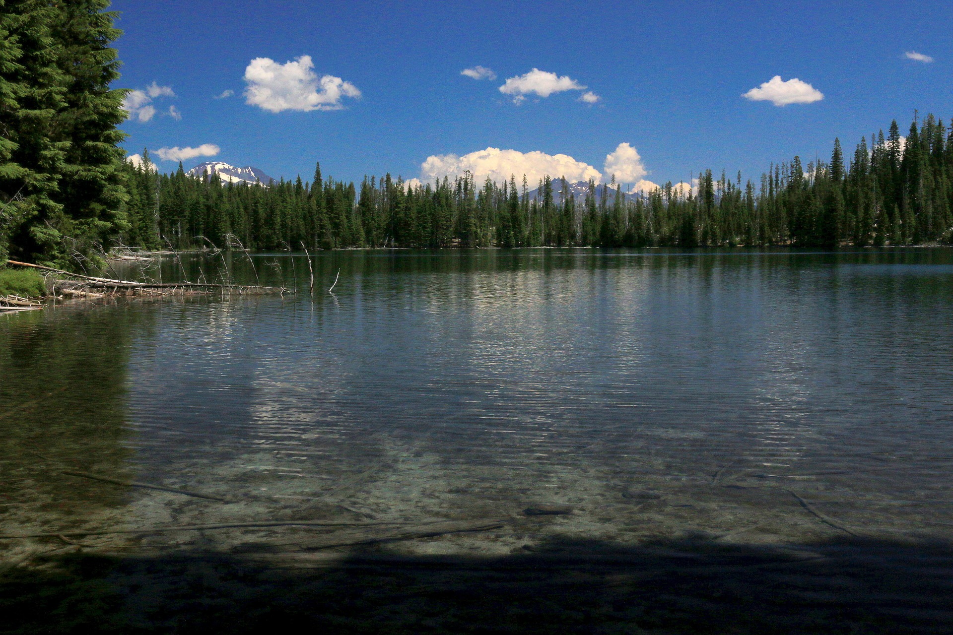
[[[412,178],[430,173],[421,165],[432,156],[431,172],[501,160],[532,172],[562,169],[550,155],[565,154],[570,171],[607,179],[606,156],[625,143],[612,164],[621,181],[687,181],[705,168],[757,177],[795,154],[829,158],[836,136],[849,153],[891,119],[904,130],[914,109],[953,117],[950,2],[119,0],[113,10],[125,31],[117,88],[142,91],[125,146],[153,157],[218,149],[187,169],[220,160],[310,180],[320,160],[336,179]],[[496,79],[461,75],[476,66]],[[533,69],[554,75],[525,77]],[[810,86],[769,86],[767,97],[793,89],[810,103],[742,97],[776,75]],[[510,78],[517,92],[501,92]],[[566,86],[586,88],[540,94]],[[487,148],[517,153],[467,156]]]

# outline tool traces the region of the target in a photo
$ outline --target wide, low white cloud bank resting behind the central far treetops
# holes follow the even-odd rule
[[[510,176],[516,176],[517,183],[521,183],[525,174],[530,187],[535,187],[539,179],[546,175],[554,179],[564,176],[570,182],[595,179],[596,183],[602,176],[598,169],[566,154],[498,148],[487,148],[463,156],[429,156],[420,166],[420,175],[425,181],[435,182],[445,176],[451,179],[463,176],[463,172],[468,170],[474,175],[477,184],[485,181],[487,177],[497,183],[503,183],[509,180]]]

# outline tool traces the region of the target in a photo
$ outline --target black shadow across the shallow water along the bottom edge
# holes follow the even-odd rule
[[[552,540],[494,558],[50,556],[0,580],[11,633],[938,633],[953,546]]]

